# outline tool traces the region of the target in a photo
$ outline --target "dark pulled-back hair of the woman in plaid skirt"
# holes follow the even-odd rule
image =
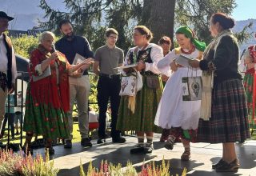
[[[223,13],[215,13],[211,16],[211,22],[219,24],[222,26],[223,30],[231,29],[234,27],[234,19],[228,17],[226,14]]]

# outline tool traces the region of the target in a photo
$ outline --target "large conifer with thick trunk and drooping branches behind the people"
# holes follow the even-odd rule
[[[48,22],[41,25],[56,30],[58,22],[69,18],[77,34],[86,36],[96,50],[104,45],[104,32],[114,27],[119,32],[117,45],[123,50],[132,46],[132,30],[136,25],[148,26],[157,42],[162,35],[174,37],[178,26],[187,25],[194,29],[198,38],[206,43],[211,40],[210,16],[216,12],[231,14],[237,6],[235,0],[64,0],[66,12],[52,9],[46,0],[40,6],[46,11]],[[240,32],[239,42],[250,34]]]

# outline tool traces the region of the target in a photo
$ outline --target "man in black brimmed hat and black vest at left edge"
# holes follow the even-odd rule
[[[0,11],[0,131],[2,130],[2,120],[5,115],[5,105],[7,94],[14,91],[15,79],[17,75],[14,48],[10,38],[4,33],[8,30],[8,22],[14,18]],[[0,139],[2,136],[0,135]]]

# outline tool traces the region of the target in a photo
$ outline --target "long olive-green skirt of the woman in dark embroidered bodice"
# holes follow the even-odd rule
[[[128,97],[122,96],[118,111],[117,130],[136,130],[143,132],[161,133],[162,129],[154,125],[154,117],[158,109],[158,103],[162,96],[162,82],[158,77],[160,87],[156,90],[146,85],[146,76],[143,76],[142,90],[136,95],[134,114],[128,109]]]

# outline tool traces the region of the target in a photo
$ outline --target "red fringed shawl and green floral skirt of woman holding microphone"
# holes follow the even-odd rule
[[[58,61],[50,62],[50,76],[36,82],[32,77],[42,74],[40,63],[49,57],[50,52],[42,45],[31,54],[23,129],[44,138],[67,138],[69,131],[66,113],[70,110],[70,64],[65,55],[58,53]]]

